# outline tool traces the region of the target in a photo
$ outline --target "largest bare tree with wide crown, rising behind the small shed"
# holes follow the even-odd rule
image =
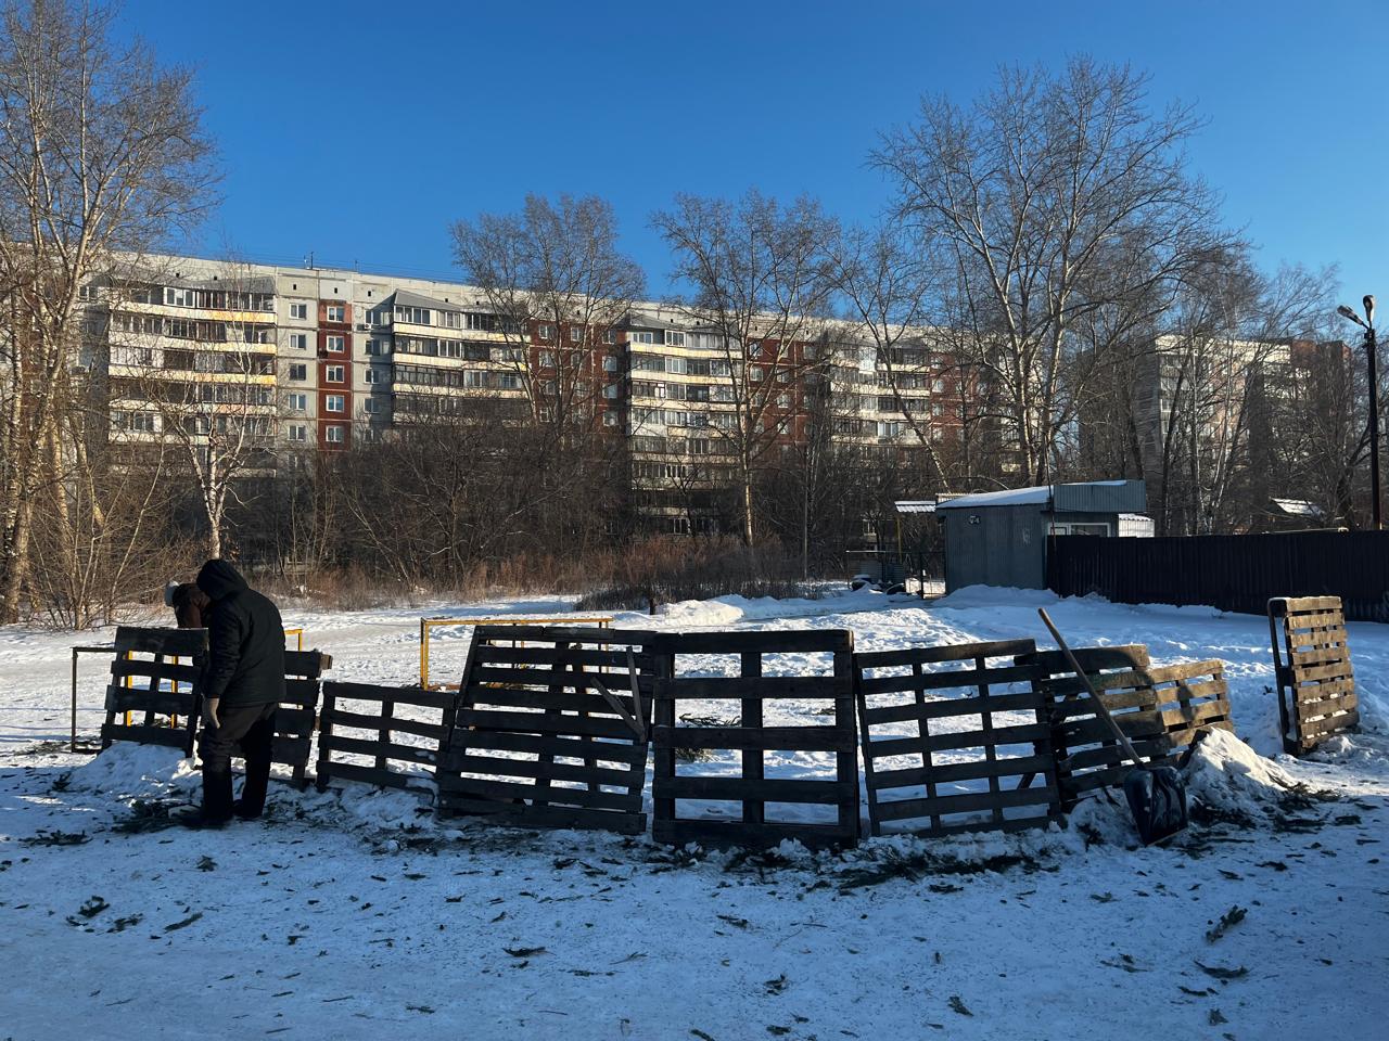
[[[1004,69],[967,110],[924,101],[874,154],[896,179],[900,219],[951,272],[942,289],[1000,391],[1022,483],[1047,479],[1074,419],[1082,326],[1117,307],[1160,312],[1225,240],[1213,194],[1186,171],[1192,110],[1150,112],[1146,83],[1089,58],[1054,76]]]

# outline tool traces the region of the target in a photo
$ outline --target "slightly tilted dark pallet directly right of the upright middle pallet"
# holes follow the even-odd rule
[[[1050,698],[1032,666],[999,661],[1035,650],[1008,640],[854,655],[872,834],[883,824],[925,836],[1017,831],[1061,819]]]

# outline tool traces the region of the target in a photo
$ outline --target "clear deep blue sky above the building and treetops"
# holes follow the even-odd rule
[[[226,169],[210,251],[449,276],[447,225],[526,192],[596,193],[651,290],[675,192],[820,196],[867,219],[878,133],[1000,64],[1090,53],[1208,126],[1193,168],[1260,261],[1338,264],[1389,300],[1385,0],[358,3],[131,0],[199,69]]]

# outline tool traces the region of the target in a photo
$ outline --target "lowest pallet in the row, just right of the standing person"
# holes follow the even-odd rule
[[[453,694],[447,691],[329,680],[318,716],[318,790],[360,781],[432,794],[451,720]],[[424,737],[428,744],[401,741],[401,734]]]

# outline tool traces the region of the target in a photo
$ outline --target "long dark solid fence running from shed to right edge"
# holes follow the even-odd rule
[[[1047,540],[1047,586],[1120,604],[1208,604],[1263,615],[1272,597],[1340,597],[1346,618],[1389,622],[1389,532]]]

